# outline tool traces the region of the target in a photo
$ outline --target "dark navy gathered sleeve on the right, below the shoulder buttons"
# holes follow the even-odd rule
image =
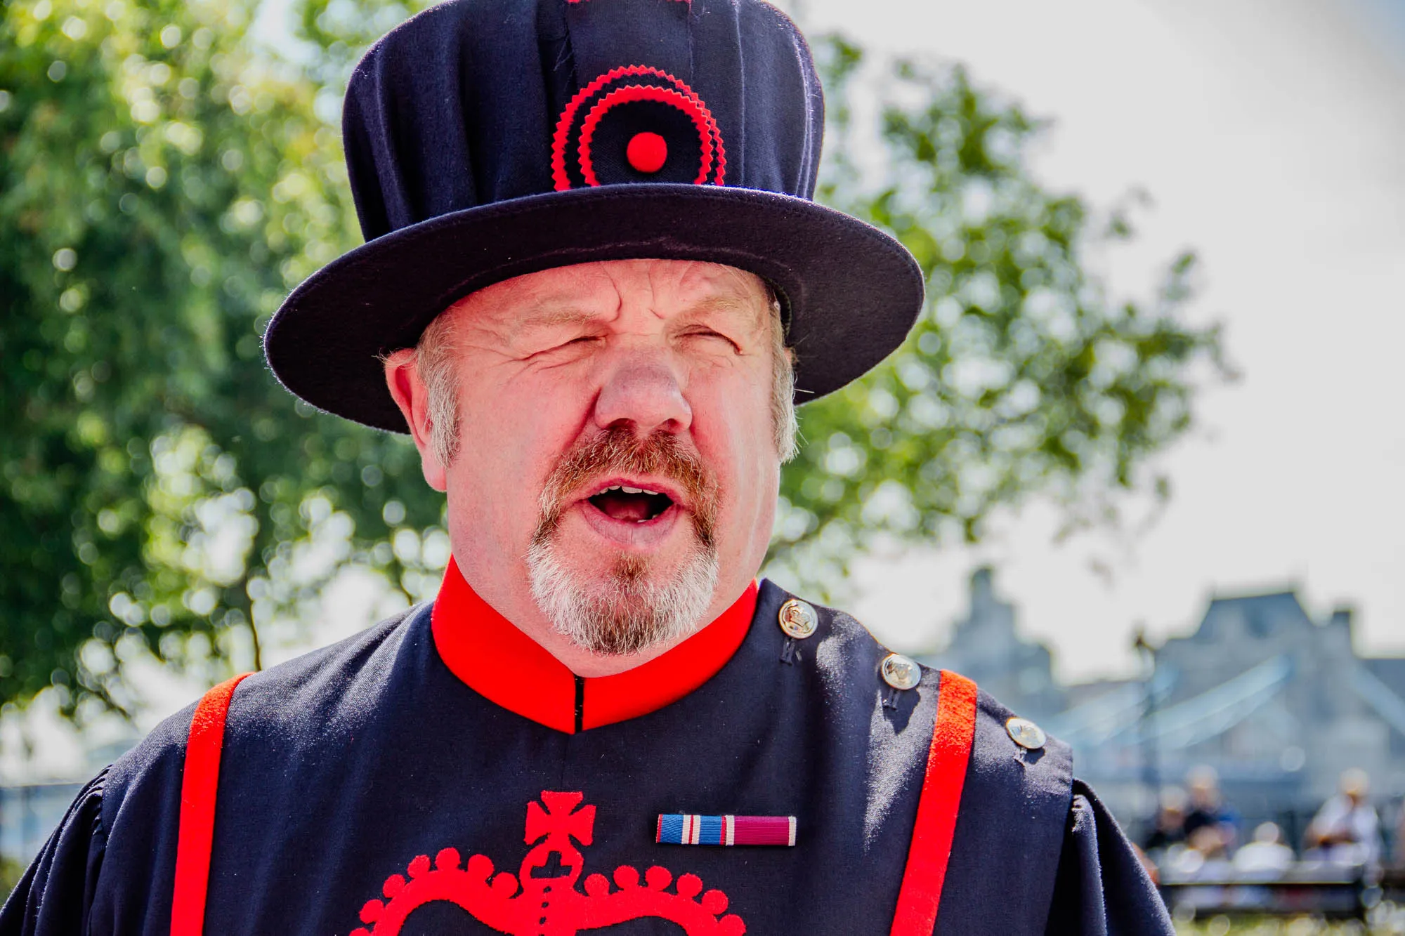
[[[1080,780],[1073,781],[1045,933],[1175,935],[1166,905],[1137,852]]]

